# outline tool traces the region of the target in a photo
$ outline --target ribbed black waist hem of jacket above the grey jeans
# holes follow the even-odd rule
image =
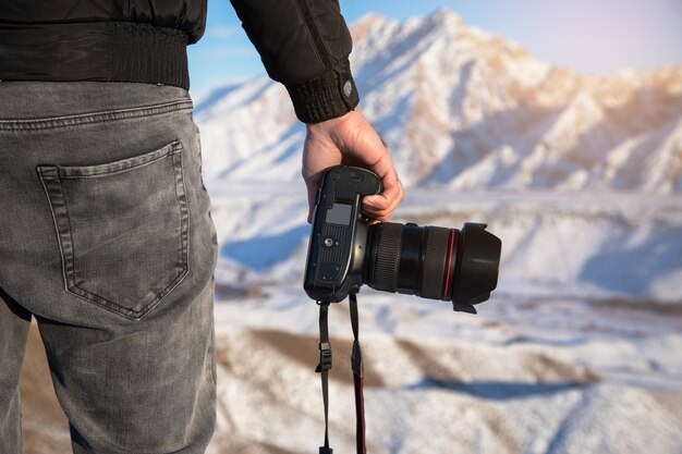
[[[0,24],[0,79],[190,87],[187,35],[134,22]]]

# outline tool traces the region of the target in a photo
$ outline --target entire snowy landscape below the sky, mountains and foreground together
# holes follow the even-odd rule
[[[447,10],[353,33],[361,108],[407,187],[393,221],[502,240],[477,316],[363,287],[368,452],[681,453],[682,66],[577,76]],[[207,95],[195,119],[220,245],[209,453],[316,453],[304,127],[266,77]],[[331,444],[353,452],[345,303],[330,333]],[[27,452],[65,452],[28,371]]]

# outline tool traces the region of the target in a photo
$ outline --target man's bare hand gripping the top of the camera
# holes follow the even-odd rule
[[[308,189],[308,222],[325,172],[340,164],[368,169],[379,176],[383,191],[364,197],[362,211],[373,223],[389,219],[405,194],[388,149],[360,110],[306,127],[302,174]]]

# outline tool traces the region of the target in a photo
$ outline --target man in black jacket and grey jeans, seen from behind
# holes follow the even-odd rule
[[[334,0],[233,0],[307,125],[324,171],[374,170],[403,197],[356,110]],[[226,5],[227,8],[227,5]],[[0,453],[21,452],[19,375],[35,317],[75,453],[202,453],[215,424],[216,238],[185,46],[203,0],[0,0]]]

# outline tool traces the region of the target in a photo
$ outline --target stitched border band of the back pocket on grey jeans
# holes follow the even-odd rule
[[[38,165],[36,171],[42,183],[42,187],[48,198],[54,229],[57,232],[60,256],[62,261],[62,278],[64,290],[83,299],[95,303],[96,305],[109,309],[113,312],[123,315],[133,319],[143,318],[151,310],[161,299],[167,296],[188,273],[188,237],[190,237],[190,214],[184,185],[184,171],[182,165],[182,143],[173,142],[158,150],[133,158],[123,159],[98,165],[86,167],[61,167],[61,165]],[[123,307],[111,299],[98,295],[92,291],[82,287],[76,277],[76,259],[74,253],[74,243],[71,226],[71,216],[69,213],[68,201],[64,195],[62,181],[75,179],[93,179],[102,176],[112,176],[120,173],[129,172],[156,162],[160,159],[169,158],[172,162],[174,176],[174,195],[178,203],[180,217],[180,242],[182,255],[182,268],[170,278],[170,282],[160,290],[154,298],[144,302],[139,310]]]

